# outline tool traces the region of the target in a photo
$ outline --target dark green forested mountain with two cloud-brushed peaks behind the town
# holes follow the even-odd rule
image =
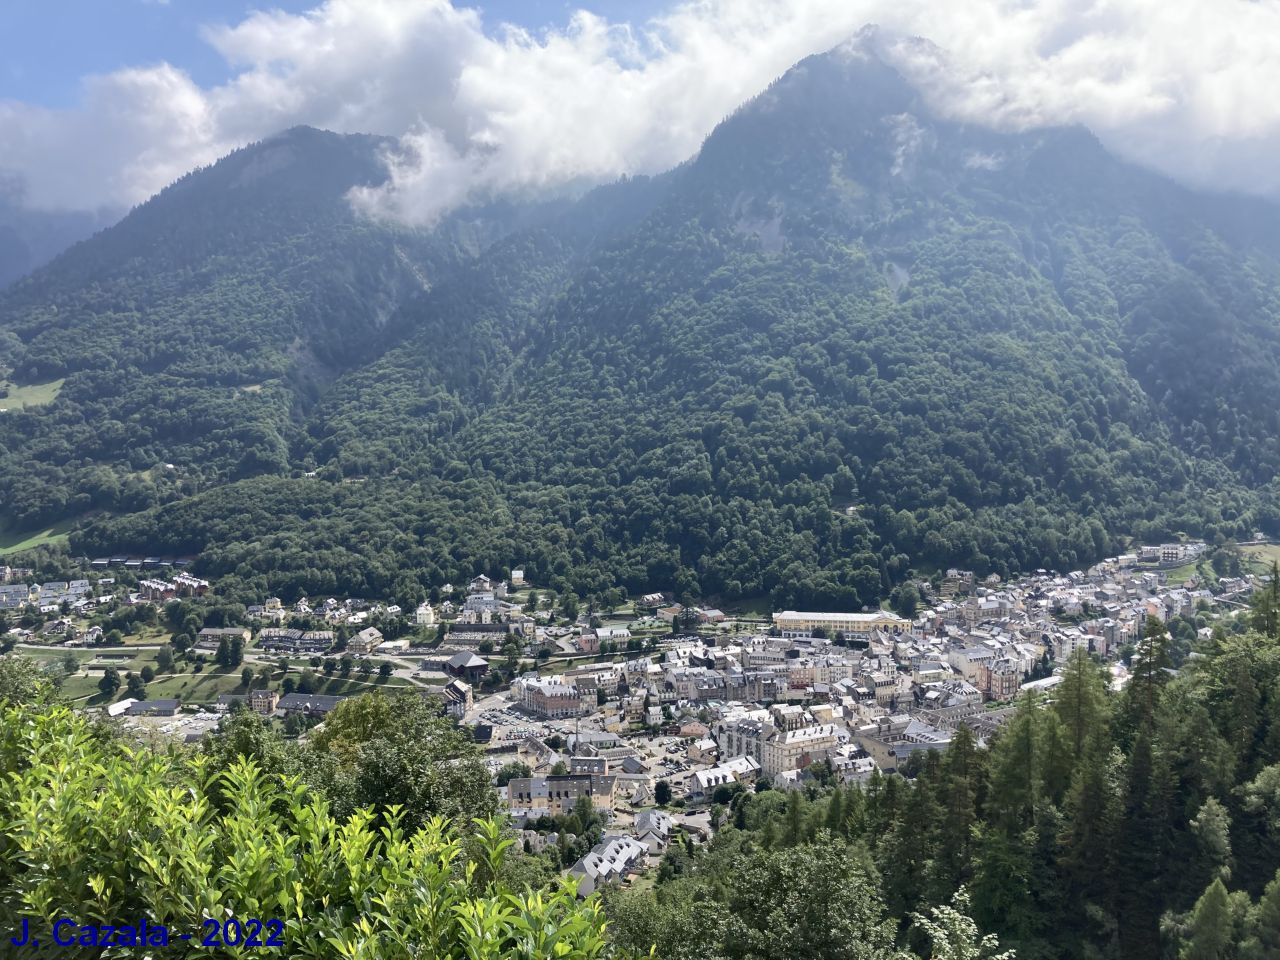
[[[430,233],[351,212],[370,138],[192,174],[0,301],[10,379],[65,379],[0,415],[5,521],[246,598],[844,607],[1280,532],[1280,211],[947,120],[877,44],[663,177]]]

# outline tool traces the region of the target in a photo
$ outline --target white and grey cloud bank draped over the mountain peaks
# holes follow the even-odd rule
[[[328,0],[210,28],[236,69],[220,86],[160,64],[86,81],[74,110],[0,101],[0,169],[35,206],[127,205],[307,123],[399,137],[389,184],[353,200],[429,224],[497,192],[667,169],[869,22],[948,115],[1084,123],[1187,182],[1280,196],[1280,0],[686,0],[536,33],[447,0]]]

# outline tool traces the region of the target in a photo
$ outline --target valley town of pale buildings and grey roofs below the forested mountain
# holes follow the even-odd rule
[[[946,570],[879,609],[768,613],[667,591],[582,604],[520,567],[412,609],[221,605],[187,561],[109,557],[54,582],[0,567],[0,630],[73,704],[152,740],[200,742],[241,709],[307,737],[349,696],[417,691],[481,746],[526,851],[591,824],[596,842],[561,864],[588,896],[709,840],[739,791],[910,776],[961,724],[983,744],[1020,698],[1051,701],[1076,653],[1120,690],[1153,620],[1193,655],[1243,628],[1274,550],[1166,543],[1009,581]]]

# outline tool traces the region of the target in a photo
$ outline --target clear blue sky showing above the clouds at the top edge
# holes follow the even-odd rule
[[[168,61],[202,87],[227,79],[228,68],[205,42],[205,24],[236,23],[255,9],[302,13],[320,0],[6,0],[0,4],[0,100],[68,108],[81,78],[123,67]],[[575,9],[613,20],[644,20],[659,0],[492,0],[474,6],[486,29],[502,22],[530,29],[563,26]]]

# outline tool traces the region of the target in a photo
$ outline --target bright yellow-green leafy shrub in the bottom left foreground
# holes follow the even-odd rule
[[[146,918],[197,934],[143,951],[154,957],[612,956],[594,899],[579,902],[568,884],[502,884],[512,841],[492,820],[465,836],[442,819],[408,833],[394,810],[339,822],[300,783],[248,762],[221,776],[220,813],[201,758],[132,749],[60,707],[0,709],[0,916],[14,931],[23,918],[33,934],[58,918]],[[279,919],[285,947],[198,947],[207,918]]]

